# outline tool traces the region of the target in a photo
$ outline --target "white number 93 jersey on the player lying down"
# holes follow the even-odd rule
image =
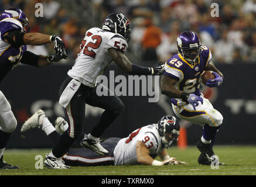
[[[138,164],[136,155],[137,141],[142,141],[148,147],[152,158],[156,158],[164,149],[157,124],[149,124],[134,130],[128,137],[118,141],[114,150],[115,165]]]

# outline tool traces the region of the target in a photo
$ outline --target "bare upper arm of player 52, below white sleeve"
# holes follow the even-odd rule
[[[112,60],[115,62],[115,64],[118,65],[118,67],[120,67],[123,72],[128,74],[132,72],[132,63],[124,53],[114,48],[108,49],[108,52],[110,53]]]

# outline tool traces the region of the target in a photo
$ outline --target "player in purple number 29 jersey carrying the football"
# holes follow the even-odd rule
[[[211,61],[210,49],[200,43],[196,33],[181,33],[177,45],[179,53],[165,63],[161,92],[172,98],[172,108],[178,117],[203,126],[203,136],[197,142],[201,152],[198,162],[210,165],[214,155],[213,143],[223,116],[199,91],[200,76],[204,71],[213,71],[216,78],[207,80],[206,86],[209,87],[222,85],[224,77]]]

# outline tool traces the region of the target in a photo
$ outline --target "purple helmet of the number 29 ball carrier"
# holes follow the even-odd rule
[[[177,38],[178,51],[190,64],[194,64],[202,51],[199,37],[192,31],[179,34]]]

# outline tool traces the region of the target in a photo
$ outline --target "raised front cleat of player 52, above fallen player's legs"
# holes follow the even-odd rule
[[[90,150],[93,150],[95,153],[99,155],[105,155],[108,154],[108,151],[105,150],[103,146],[101,146],[100,141],[94,141],[87,137],[87,135],[84,135],[83,140],[81,140],[80,145],[84,148],[88,148]]]

